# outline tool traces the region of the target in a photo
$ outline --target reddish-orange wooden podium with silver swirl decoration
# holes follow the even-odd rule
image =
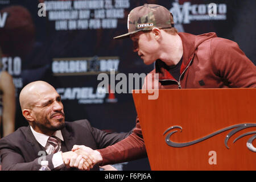
[[[256,88],[149,95],[133,93],[152,170],[256,170]]]

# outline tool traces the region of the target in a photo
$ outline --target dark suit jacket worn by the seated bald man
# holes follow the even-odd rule
[[[65,122],[65,127],[61,130],[64,139],[61,151],[71,151],[75,144],[85,145],[94,150],[105,148],[126,138],[130,133],[106,133],[90,126],[86,119]],[[47,154],[44,147],[36,141],[30,126],[20,127],[14,133],[0,139],[2,170],[38,170],[41,167],[38,161],[42,160],[40,157],[44,152]],[[53,154],[46,155],[51,170],[53,170],[52,156]],[[68,168],[61,168],[61,170],[66,169]],[[94,166],[93,169],[98,170],[99,167]]]

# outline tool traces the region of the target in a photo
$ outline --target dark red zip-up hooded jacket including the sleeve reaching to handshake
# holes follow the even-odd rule
[[[157,60],[151,73],[159,73],[159,89],[256,87],[256,67],[237,43],[217,38],[215,33],[192,35],[180,32],[179,36],[183,42],[181,76],[179,80],[175,80],[164,69],[164,63]],[[144,81],[143,88],[147,88],[147,80]],[[98,151],[103,158],[101,165],[146,156],[139,119],[137,118],[136,127],[129,137]]]

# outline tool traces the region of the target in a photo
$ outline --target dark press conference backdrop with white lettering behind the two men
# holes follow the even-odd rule
[[[196,35],[216,32],[237,42],[255,64],[254,0],[1,0],[0,60],[2,69],[14,78],[16,129],[28,125],[18,103],[20,90],[36,80],[56,88],[67,121],[86,118],[101,130],[133,129],[137,113],[129,85],[127,93],[109,94],[97,89],[102,81],[97,77],[100,73],[110,75],[110,69],[128,78],[129,73],[148,73],[154,68],[154,64],[144,65],[132,51],[131,40],[113,40],[127,32],[129,11],[144,3],[170,10],[178,31]],[[115,167],[150,170],[147,158]]]

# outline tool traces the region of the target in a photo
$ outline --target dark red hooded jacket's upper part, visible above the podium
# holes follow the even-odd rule
[[[179,85],[189,89],[256,87],[256,67],[237,43],[217,38],[213,32],[197,36],[179,33],[179,36],[183,42],[180,80],[172,77],[163,61],[156,60],[151,73],[159,73],[159,89],[177,89]],[[146,83],[145,80],[144,89]]]

